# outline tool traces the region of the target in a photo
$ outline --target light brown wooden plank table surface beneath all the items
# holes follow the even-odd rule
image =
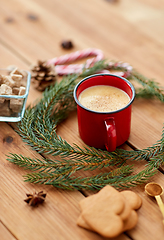
[[[1,68],[15,65],[30,70],[38,59],[98,48],[106,59],[128,62],[164,86],[164,0],[0,0],[0,4]],[[61,48],[65,39],[72,40],[73,49]],[[41,92],[31,84],[27,105],[40,97]],[[162,103],[136,99],[128,145],[136,149],[152,146],[161,138],[163,122]],[[76,225],[83,192],[23,181],[27,171],[9,163],[6,155],[12,152],[37,157],[38,153],[22,141],[14,128],[14,124],[0,122],[0,239],[104,239]],[[83,144],[76,113],[59,132],[70,144]],[[7,141],[8,137],[12,141]],[[163,173],[159,171],[151,181],[164,187]],[[40,190],[47,192],[43,205],[31,208],[23,201],[26,193]],[[162,215],[155,200],[145,194],[144,185],[133,191],[143,201],[137,226],[116,239],[164,239]],[[86,192],[89,194],[93,192]]]

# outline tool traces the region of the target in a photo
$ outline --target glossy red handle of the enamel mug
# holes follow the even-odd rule
[[[116,150],[116,126],[115,126],[115,121],[113,117],[106,118],[104,120],[105,127],[106,127],[106,142],[105,142],[105,147],[107,151],[113,152]]]

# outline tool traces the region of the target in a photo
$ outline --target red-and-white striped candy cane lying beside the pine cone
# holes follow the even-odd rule
[[[95,56],[94,58],[88,59],[85,64],[69,64],[69,65],[62,65],[72,63],[74,61]],[[84,49],[81,51],[76,51],[70,54],[66,54],[60,57],[56,57],[47,61],[47,65],[54,65],[55,70],[58,75],[68,75],[72,73],[80,73],[82,72],[83,68],[91,67],[95,62],[102,60],[104,57],[103,53],[99,49]]]

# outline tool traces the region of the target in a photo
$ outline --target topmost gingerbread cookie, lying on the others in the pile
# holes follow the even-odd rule
[[[119,214],[125,202],[117,190],[107,185],[91,200],[88,197],[85,204],[87,206],[82,211],[82,217],[91,229],[104,237],[115,237],[122,231],[123,221]]]

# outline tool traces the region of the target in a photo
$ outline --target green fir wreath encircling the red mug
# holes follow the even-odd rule
[[[164,162],[164,130],[161,139],[151,147],[131,151],[116,149],[114,152],[89,146],[81,148],[76,144],[71,146],[57,135],[59,123],[76,109],[73,90],[79,79],[104,69],[109,69],[109,65],[105,61],[99,61],[89,69],[84,68],[81,74],[63,77],[59,83],[56,82],[44,91],[43,98],[35,106],[26,109],[24,118],[18,125],[18,133],[24,142],[42,155],[42,159],[12,153],[7,156],[8,161],[31,171],[24,176],[25,181],[69,190],[96,190],[107,184],[124,189],[142,184],[157,173]],[[113,62],[110,70],[125,71],[125,68]],[[135,70],[127,78],[141,85],[136,88],[136,97],[156,97],[164,102],[164,91],[153,80],[146,79]],[[58,156],[60,159],[47,158],[45,155]],[[134,161],[143,160],[147,161],[145,168],[135,174]],[[125,165],[127,161],[128,165]],[[106,172],[89,177],[76,176],[80,170],[102,168]]]

